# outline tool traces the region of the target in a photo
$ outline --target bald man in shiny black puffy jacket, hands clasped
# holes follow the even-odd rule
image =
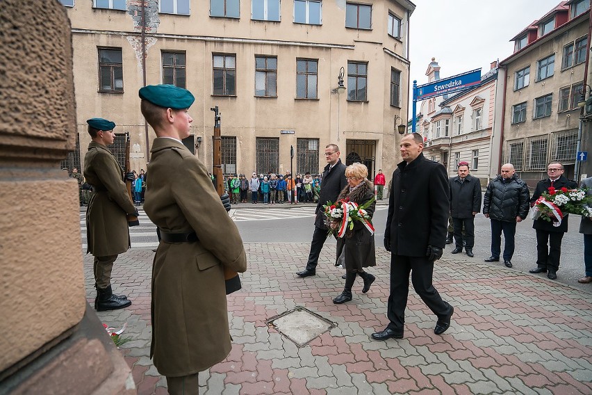
[[[514,166],[506,163],[502,174],[491,181],[483,198],[483,213],[491,220],[491,257],[486,262],[500,261],[502,231],[504,232],[504,265],[512,267],[516,223],[528,215],[530,193],[523,180],[514,174]]]

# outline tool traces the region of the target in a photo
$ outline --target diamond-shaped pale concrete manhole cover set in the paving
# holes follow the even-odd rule
[[[336,326],[331,321],[304,307],[296,307],[279,314],[279,316],[274,316],[266,323],[276,328],[278,332],[293,341],[298,347],[306,346],[309,341]]]

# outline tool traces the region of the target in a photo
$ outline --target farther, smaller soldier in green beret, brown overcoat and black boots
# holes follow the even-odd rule
[[[94,282],[97,298],[94,309],[122,309],[131,305],[124,295],[115,295],[111,288],[111,270],[117,255],[130,247],[127,214],[137,216],[124,184],[124,170],[108,150],[113,144],[115,123],[103,118],[88,121],[92,138],[84,156],[84,177],[92,186],[86,210],[88,250],[94,255]],[[125,175],[133,178],[132,173]]]

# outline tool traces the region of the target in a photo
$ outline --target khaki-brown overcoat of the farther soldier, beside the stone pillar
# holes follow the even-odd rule
[[[123,182],[124,171],[105,145],[91,142],[84,156],[84,177],[94,191],[86,210],[88,250],[105,257],[129,249],[127,213],[135,213]]]

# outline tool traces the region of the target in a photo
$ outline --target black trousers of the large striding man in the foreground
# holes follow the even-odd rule
[[[434,273],[434,262],[425,257],[406,257],[390,255],[390,296],[388,296],[388,328],[395,332],[403,332],[405,307],[409,296],[409,271],[413,289],[436,316],[450,314],[450,305],[442,300],[440,294],[431,284]]]

